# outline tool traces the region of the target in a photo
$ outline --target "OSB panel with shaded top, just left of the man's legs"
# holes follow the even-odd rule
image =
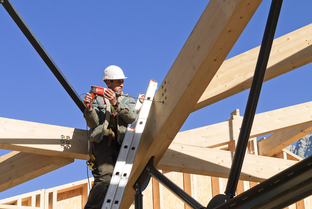
[[[82,188],[57,194],[57,209],[81,208]]]

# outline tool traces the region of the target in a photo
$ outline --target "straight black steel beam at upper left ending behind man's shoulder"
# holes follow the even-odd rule
[[[5,10],[7,10],[7,13],[9,13],[9,15],[14,20],[14,22],[17,24],[17,26],[21,29],[22,33],[24,33],[24,35],[26,36],[28,41],[35,48],[37,53],[40,55],[40,57],[43,59],[43,61],[48,66],[48,68],[55,75],[56,79],[61,83],[61,85],[64,87],[64,89],[70,95],[71,99],[74,100],[74,102],[76,103],[78,108],[83,112],[85,110],[85,105],[80,100],[79,95],[77,94],[75,89],[72,87],[72,85],[69,83],[69,81],[66,79],[66,77],[61,72],[61,70],[57,67],[57,65],[55,64],[53,59],[50,57],[50,55],[43,48],[43,46],[41,45],[41,43],[39,42],[39,40],[37,39],[35,34],[28,27],[28,25],[23,20],[21,15],[17,12],[17,10],[14,8],[12,3],[9,0],[0,0],[0,3],[5,8]]]

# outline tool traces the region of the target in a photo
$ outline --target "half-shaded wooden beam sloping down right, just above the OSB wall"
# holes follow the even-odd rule
[[[158,169],[228,178],[234,152],[172,143]],[[262,182],[297,161],[246,154],[240,180]]]

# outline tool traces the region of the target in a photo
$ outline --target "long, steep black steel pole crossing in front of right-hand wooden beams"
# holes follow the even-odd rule
[[[283,0],[272,0],[225,194],[235,196]]]

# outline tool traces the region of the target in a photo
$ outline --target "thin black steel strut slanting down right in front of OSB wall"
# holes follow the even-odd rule
[[[154,177],[159,183],[165,186],[169,191],[171,191],[174,195],[176,195],[180,200],[182,200],[185,204],[190,206],[193,209],[205,209],[199,202],[197,202],[192,196],[183,191],[180,187],[178,187],[175,183],[170,181],[166,176],[160,173],[155,167],[148,167],[149,174]]]

